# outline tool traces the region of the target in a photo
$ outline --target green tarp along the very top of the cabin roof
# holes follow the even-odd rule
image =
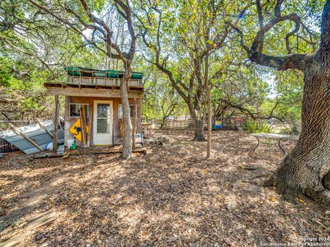
[[[101,69],[88,69],[82,67],[65,67],[67,75],[72,76],[86,76],[86,77],[100,77],[100,78],[123,78],[124,71],[114,71],[111,69],[101,70]],[[143,73],[133,72],[132,79],[142,79]]]

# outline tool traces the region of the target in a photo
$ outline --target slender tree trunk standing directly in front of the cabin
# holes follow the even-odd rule
[[[122,98],[122,122],[124,124],[124,139],[122,140],[122,158],[128,159],[132,156],[132,124],[131,110],[129,108],[129,97],[127,95],[127,86],[131,80],[132,67],[126,64],[126,71],[123,80],[120,83],[120,96]]]

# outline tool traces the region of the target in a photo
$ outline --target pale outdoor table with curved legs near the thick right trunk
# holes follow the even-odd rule
[[[278,144],[278,148],[280,148],[283,154],[285,154],[285,149],[281,146],[281,141],[283,139],[298,140],[298,136],[292,134],[253,133],[251,135],[258,140],[258,144],[254,147],[253,152],[256,151],[256,148],[259,147],[260,143],[267,144],[267,148],[268,145]]]

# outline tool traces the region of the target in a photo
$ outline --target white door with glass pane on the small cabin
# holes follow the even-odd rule
[[[94,100],[94,145],[112,144],[113,107],[112,101]]]

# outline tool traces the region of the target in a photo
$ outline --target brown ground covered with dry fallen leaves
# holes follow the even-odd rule
[[[206,143],[190,141],[192,132],[159,134],[168,134],[170,148],[149,145],[147,154],[129,161],[119,154],[6,154],[0,220],[13,216],[0,222],[0,239],[23,233],[29,219],[49,211],[55,220],[32,231],[22,246],[263,246],[330,237],[325,210],[302,196],[285,202],[261,186],[265,176],[259,175],[283,158],[278,148],[252,152],[254,137],[218,131],[206,161]],[[287,150],[293,145],[284,143]],[[32,207],[31,198],[38,199]]]

